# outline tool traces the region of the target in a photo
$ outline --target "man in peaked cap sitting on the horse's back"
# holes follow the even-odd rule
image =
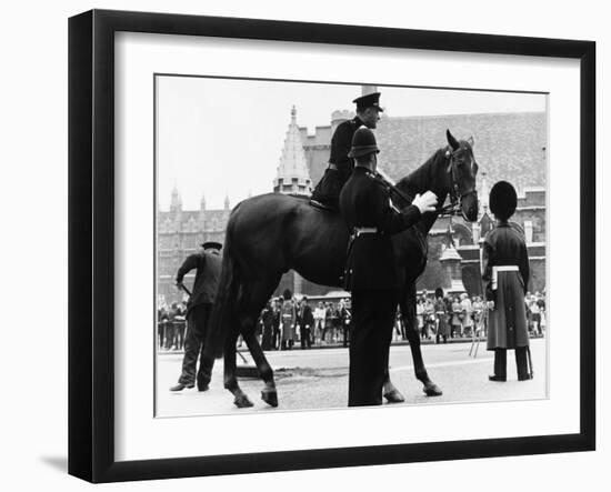
[[[352,101],[357,104],[357,116],[339,124],[331,138],[331,154],[329,167],[312,192],[312,200],[323,205],[337,209],[342,187],[354,169],[354,160],[350,153],[352,137],[362,125],[375,128],[380,120],[380,92],[361,96]]]

